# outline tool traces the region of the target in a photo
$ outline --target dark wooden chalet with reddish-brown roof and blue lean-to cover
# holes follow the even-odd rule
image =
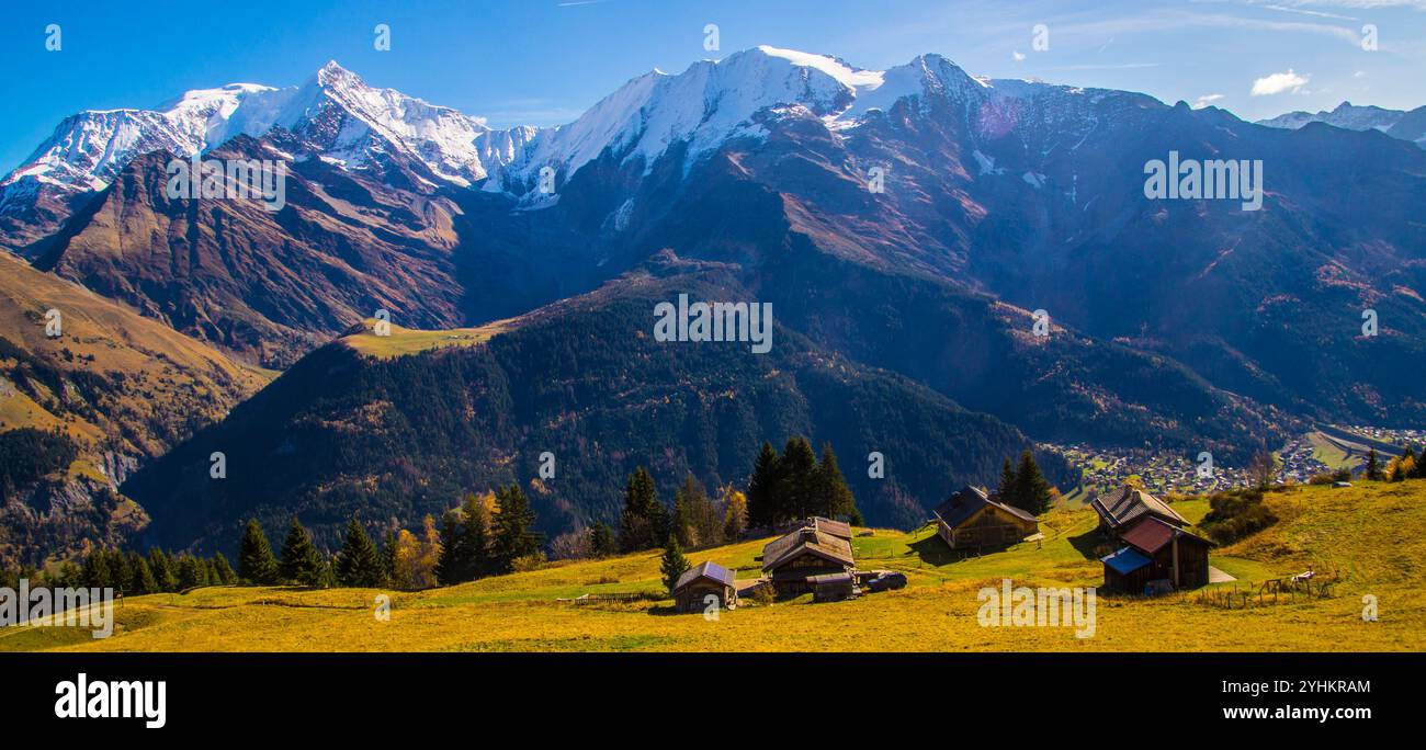
[[[1121,540],[1122,549],[1101,558],[1105,590],[1141,593],[1156,580],[1175,589],[1208,585],[1208,549],[1214,546],[1208,539],[1147,516],[1125,530]]]

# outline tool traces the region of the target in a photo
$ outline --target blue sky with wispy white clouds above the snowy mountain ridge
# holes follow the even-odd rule
[[[57,53],[44,48],[51,23]],[[378,23],[391,51],[374,50]],[[720,51],[703,48],[710,23]],[[1368,23],[1375,51],[1360,44]],[[1035,24],[1048,50],[1034,50]],[[1202,100],[1248,120],[1342,100],[1426,104],[1426,0],[6,0],[0,173],[76,111],[292,86],[328,58],[496,127],[552,125],[650,68],[756,44],[867,68],[935,51],[973,74]]]

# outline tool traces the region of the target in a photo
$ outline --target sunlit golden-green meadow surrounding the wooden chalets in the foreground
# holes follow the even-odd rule
[[[1054,510],[1047,539],[958,562],[947,560],[930,528],[877,530],[857,538],[858,566],[904,570],[910,585],[851,602],[810,597],[757,606],[746,602],[716,622],[667,613],[667,600],[573,605],[582,593],[653,592],[655,552],[548,567],[418,593],[359,589],[211,587],[124,602],[116,633],[14,627],[0,650],[1422,650],[1426,649],[1426,482],[1359,483],[1352,489],[1299,486],[1265,500],[1278,525],[1225,549],[1211,563],[1238,586],[1298,573],[1308,566],[1342,580],[1329,599],[1298,599],[1248,609],[1216,609],[1199,592],[1159,599],[1098,599],[1097,632],[1072,627],[981,627],[977,592],[1018,585],[1095,586],[1094,512]],[[1196,522],[1206,500],[1175,508]],[[764,540],[696,552],[753,577]],[[386,622],[374,602],[389,593]],[[1379,622],[1362,620],[1362,597],[1379,602]]]

